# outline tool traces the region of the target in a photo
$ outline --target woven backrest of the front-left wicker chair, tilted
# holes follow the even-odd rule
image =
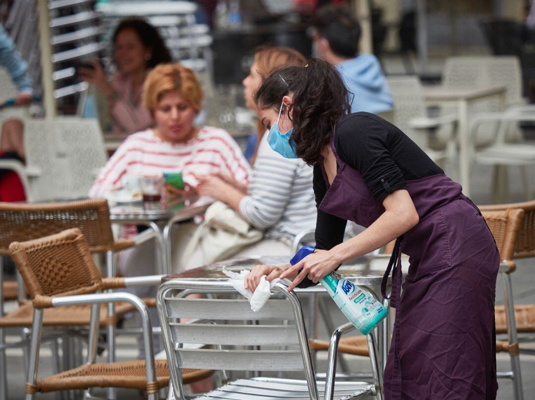
[[[13,242],[9,250],[32,299],[94,293],[102,286],[101,275],[79,229]]]

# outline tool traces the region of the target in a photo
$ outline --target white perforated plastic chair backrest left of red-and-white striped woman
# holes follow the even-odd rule
[[[24,143],[32,202],[87,197],[107,159],[96,120],[26,120]]]

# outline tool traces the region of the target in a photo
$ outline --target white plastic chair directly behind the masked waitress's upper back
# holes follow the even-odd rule
[[[452,152],[455,115],[427,117],[422,85],[417,76],[388,76],[388,87],[394,99],[393,120],[413,142],[436,163],[441,164]],[[450,126],[444,137],[434,135],[437,128]],[[442,136],[442,135],[441,135]],[[433,147],[431,146],[433,143]]]

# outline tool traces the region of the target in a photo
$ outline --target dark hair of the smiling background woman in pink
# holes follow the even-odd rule
[[[117,35],[125,29],[132,29],[139,36],[143,45],[152,51],[152,57],[147,61],[147,68],[154,68],[158,64],[167,64],[172,61],[171,54],[165,46],[162,36],[150,23],[139,18],[122,20],[113,32],[112,41],[114,44]]]

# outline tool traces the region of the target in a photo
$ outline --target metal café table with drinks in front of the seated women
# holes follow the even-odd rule
[[[156,232],[156,240],[161,254],[163,273],[171,273],[171,228],[174,223],[189,221],[196,215],[204,214],[212,204],[209,197],[189,197],[168,203],[159,210],[145,210],[142,203],[114,206],[110,209],[110,219],[118,224],[144,225]]]

